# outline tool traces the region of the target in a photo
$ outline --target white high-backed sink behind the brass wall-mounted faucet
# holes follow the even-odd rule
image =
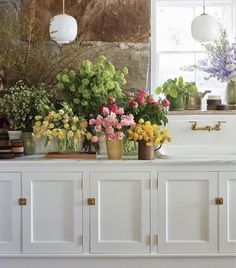
[[[236,113],[169,115],[167,128],[173,141],[164,144],[162,152],[170,157],[232,157],[236,155]],[[192,130],[193,122],[198,127],[215,126],[221,123],[221,130]]]

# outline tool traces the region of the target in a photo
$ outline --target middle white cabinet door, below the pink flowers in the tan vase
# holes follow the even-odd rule
[[[150,172],[90,173],[91,253],[150,252]]]

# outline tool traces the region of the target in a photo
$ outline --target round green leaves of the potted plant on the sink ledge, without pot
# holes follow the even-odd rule
[[[194,83],[185,82],[183,77],[168,79],[161,87],[156,88],[156,94],[164,94],[176,99],[180,95],[194,95],[197,93],[197,87]]]

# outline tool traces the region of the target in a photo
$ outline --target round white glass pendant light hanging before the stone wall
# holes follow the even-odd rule
[[[77,36],[77,22],[75,18],[65,13],[65,0],[62,1],[63,12],[51,19],[49,33],[51,39],[58,44],[68,44]]]

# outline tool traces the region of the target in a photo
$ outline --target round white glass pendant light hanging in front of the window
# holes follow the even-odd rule
[[[205,12],[205,0],[203,1],[203,14],[193,19],[191,25],[192,37],[198,42],[214,41],[218,37],[218,23],[215,17]]]

